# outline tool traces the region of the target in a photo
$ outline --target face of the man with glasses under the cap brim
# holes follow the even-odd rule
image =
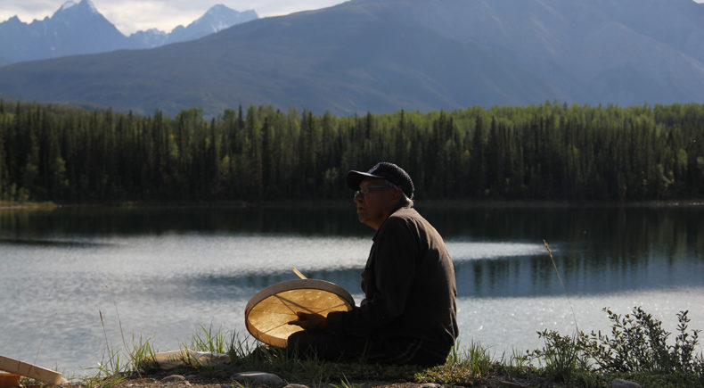
[[[384,179],[365,178],[359,189],[369,193],[355,197],[357,219],[374,230],[381,227],[400,200],[400,190],[386,185]]]

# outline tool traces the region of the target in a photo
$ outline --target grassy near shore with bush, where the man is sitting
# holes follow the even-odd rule
[[[704,359],[697,351],[698,330],[689,330],[687,312],[677,314],[675,336],[662,329],[661,322],[641,308],[626,314],[604,309],[612,327],[610,334],[565,335],[536,333],[544,340],[540,349],[491,354],[479,343],[457,343],[438,367],[381,366],[364,362],[335,363],[299,359],[285,351],[241,340],[237,334],[201,326],[181,349],[223,353],[227,364],[203,365],[184,356],[187,366],[160,369],[151,343],[134,339],[116,350],[106,341],[105,355],[94,376],[73,382],[76,386],[153,387],[170,375],[186,376],[183,385],[197,387],[255,386],[235,382],[232,376],[244,371],[268,372],[289,384],[334,388],[398,386],[487,387],[610,387],[615,379],[643,387],[704,387]],[[107,340],[107,339],[106,339]],[[186,384],[187,383],[187,384]],[[169,383],[173,386],[174,383]]]

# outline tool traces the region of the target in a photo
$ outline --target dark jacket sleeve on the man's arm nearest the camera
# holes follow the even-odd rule
[[[367,262],[366,301],[351,311],[331,312],[328,326],[347,334],[368,335],[398,318],[416,277],[419,245],[405,219],[387,219]]]

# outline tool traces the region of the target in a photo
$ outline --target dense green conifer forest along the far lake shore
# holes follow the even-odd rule
[[[0,199],[344,198],[395,161],[423,199],[704,195],[704,105],[544,103],[335,117],[250,106],[206,119],[0,101]]]

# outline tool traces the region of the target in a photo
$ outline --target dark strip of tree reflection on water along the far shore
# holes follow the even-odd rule
[[[704,207],[440,207],[419,211],[446,239],[593,242],[613,254],[693,245],[704,251]],[[94,207],[0,211],[0,236],[162,235],[168,233],[371,235],[354,208]]]

